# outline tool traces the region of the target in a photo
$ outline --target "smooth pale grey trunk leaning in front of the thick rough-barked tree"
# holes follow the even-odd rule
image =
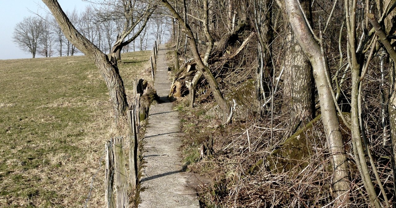
[[[331,154],[333,168],[333,189],[335,193],[335,207],[347,207],[349,201],[350,182],[348,168],[343,148],[341,131],[335,104],[332,97],[331,83],[328,80],[327,59],[322,55],[320,45],[310,32],[307,21],[303,16],[297,0],[286,0],[286,9],[293,32],[303,51],[309,58],[316,86],[318,88],[322,122],[327,139],[327,146]]]

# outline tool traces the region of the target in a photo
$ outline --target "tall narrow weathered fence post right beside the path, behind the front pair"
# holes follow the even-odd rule
[[[128,111],[128,126],[129,126],[129,181],[132,189],[136,188],[137,185],[137,155],[135,154],[136,142],[135,142],[135,131],[133,131],[133,111]]]

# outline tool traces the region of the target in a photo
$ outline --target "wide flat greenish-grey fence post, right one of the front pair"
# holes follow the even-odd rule
[[[125,169],[124,137],[113,138],[116,182],[116,208],[129,208],[128,180]]]

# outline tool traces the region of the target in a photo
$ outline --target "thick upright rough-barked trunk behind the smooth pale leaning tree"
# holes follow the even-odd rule
[[[311,24],[311,1],[300,2]],[[287,20],[286,13],[284,19]],[[290,112],[289,118],[292,122],[289,127],[293,131],[300,122],[306,123],[314,118],[314,84],[312,67],[307,56],[290,25],[286,30],[282,113]]]

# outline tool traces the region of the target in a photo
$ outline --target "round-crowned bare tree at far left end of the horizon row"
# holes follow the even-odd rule
[[[36,52],[42,36],[43,21],[40,17],[24,17],[23,21],[16,24],[13,32],[13,42],[23,51],[36,57]]]

